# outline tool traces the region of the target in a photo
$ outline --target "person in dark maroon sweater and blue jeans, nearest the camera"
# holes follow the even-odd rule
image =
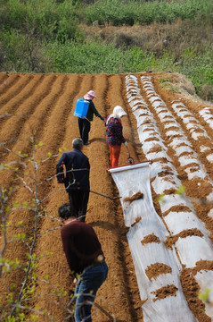
[[[92,303],[108,275],[102,246],[93,227],[72,216],[70,204],[63,204],[58,213],[64,223],[61,228],[63,250],[76,283],[75,321],[91,322]]]

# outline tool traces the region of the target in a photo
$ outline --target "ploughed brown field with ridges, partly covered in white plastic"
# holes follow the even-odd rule
[[[207,294],[207,289],[213,288],[213,106],[190,96],[186,80],[182,79],[181,88],[178,84],[180,75],[170,72],[0,73],[4,225],[0,250],[1,258],[11,263],[9,272],[1,270],[2,294],[11,294],[10,301],[2,296],[4,312],[14,313],[19,299],[23,320],[33,320],[32,313],[38,321],[69,320],[74,284],[57,217],[57,209],[68,202],[68,195],[56,181],[55,165],[63,150],[71,150],[71,141],[79,136],[78,118],[73,115],[76,101],[93,89],[97,95],[94,105],[102,116],[107,117],[117,105],[127,112],[123,134],[135,163],[152,161],[149,185],[157,218],[154,225],[162,223],[159,231],[166,234],[158,234],[156,229],[144,235],[144,251],[160,244],[176,254],[173,260],[178,262],[174,277],[178,283],[168,285],[170,268],[160,260],[151,257],[149,265],[145,266],[144,260],[135,269],[135,254],[127,237],[131,228],[143,226],[143,208],[140,220],[127,226],[122,198],[107,171],[110,150],[105,126],[94,117],[91,144],[83,150],[91,165],[86,223],[94,227],[102,243],[109,275],[97,293],[93,321],[170,321],[173,315],[173,321],[213,320],[213,290],[209,290],[209,297]],[[122,146],[119,165],[127,165],[127,157]],[[171,216],[175,216],[176,225],[172,225]],[[17,266],[15,258],[19,259]],[[140,269],[147,281],[142,288]],[[152,284],[160,275],[166,276],[166,282],[153,290]],[[190,318],[184,319],[179,293]],[[166,306],[163,315],[167,319],[160,315],[153,319],[153,308],[168,299],[169,303],[175,299],[176,306]]]

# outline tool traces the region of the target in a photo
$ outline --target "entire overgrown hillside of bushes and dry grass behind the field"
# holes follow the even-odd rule
[[[211,0],[0,0],[0,21],[0,72],[180,72],[213,99]]]

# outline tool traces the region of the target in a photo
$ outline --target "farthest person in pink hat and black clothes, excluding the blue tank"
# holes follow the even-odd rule
[[[100,119],[102,121],[104,121],[104,118],[102,117],[101,114],[98,113],[98,111],[96,110],[96,108],[94,106],[94,102],[93,102],[94,97],[96,98],[96,96],[94,94],[94,90],[89,90],[85,94],[85,96],[83,98],[90,102],[89,107],[88,107],[88,111],[86,114],[86,118],[82,119],[82,118],[78,117],[78,128],[79,128],[79,132],[80,132],[80,137],[84,141],[85,145],[90,144],[88,137],[89,137],[89,131],[91,128],[91,122],[94,119],[94,115],[97,117],[100,117]]]

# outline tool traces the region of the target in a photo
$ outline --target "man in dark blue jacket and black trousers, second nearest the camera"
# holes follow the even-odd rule
[[[56,177],[61,173],[61,165],[65,165],[64,185],[69,194],[73,216],[84,222],[90,190],[90,164],[88,157],[81,151],[83,145],[83,140],[79,138],[72,141],[73,150],[63,153],[56,165]]]

